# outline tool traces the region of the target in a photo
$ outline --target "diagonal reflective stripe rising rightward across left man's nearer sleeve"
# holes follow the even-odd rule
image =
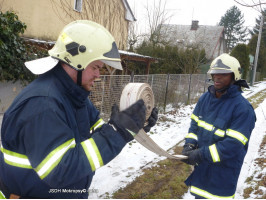
[[[64,144],[54,149],[35,169],[41,179],[44,179],[62,160],[65,153],[76,146],[74,139],[68,140]]]

